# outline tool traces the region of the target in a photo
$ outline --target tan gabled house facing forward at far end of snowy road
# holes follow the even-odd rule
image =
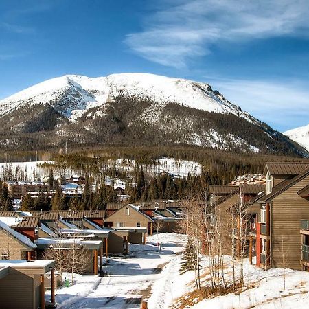
[[[153,220],[141,213],[133,205],[122,205],[117,211],[104,219],[104,227],[146,227],[152,235]]]

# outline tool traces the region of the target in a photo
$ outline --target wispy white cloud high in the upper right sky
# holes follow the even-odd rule
[[[308,0],[161,0],[125,43],[150,61],[185,67],[222,41],[308,36]]]

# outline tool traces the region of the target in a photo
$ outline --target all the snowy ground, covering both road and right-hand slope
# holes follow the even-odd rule
[[[162,244],[161,251],[158,242]],[[141,299],[148,301],[149,309],[309,308],[309,273],[282,268],[263,271],[250,265],[247,259],[244,260],[247,287],[241,293],[201,301],[196,297],[184,307],[183,301],[194,290],[194,272],[179,274],[184,243],[185,236],[159,233],[148,237],[146,245],[130,244],[130,255],[104,259],[107,277],[77,275],[76,284],[57,290],[59,308],[140,308]],[[207,258],[201,261],[203,286],[209,284],[208,263]],[[229,281],[229,256],[225,257],[225,266],[225,279]]]

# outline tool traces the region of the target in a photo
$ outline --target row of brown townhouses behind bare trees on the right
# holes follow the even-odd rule
[[[266,163],[264,175],[265,185],[211,186],[210,220],[224,227],[228,253],[309,271],[309,163]]]

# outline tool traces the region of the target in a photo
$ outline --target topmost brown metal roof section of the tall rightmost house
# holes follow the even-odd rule
[[[309,162],[266,162],[264,174],[268,170],[273,175],[298,175],[306,168]]]

